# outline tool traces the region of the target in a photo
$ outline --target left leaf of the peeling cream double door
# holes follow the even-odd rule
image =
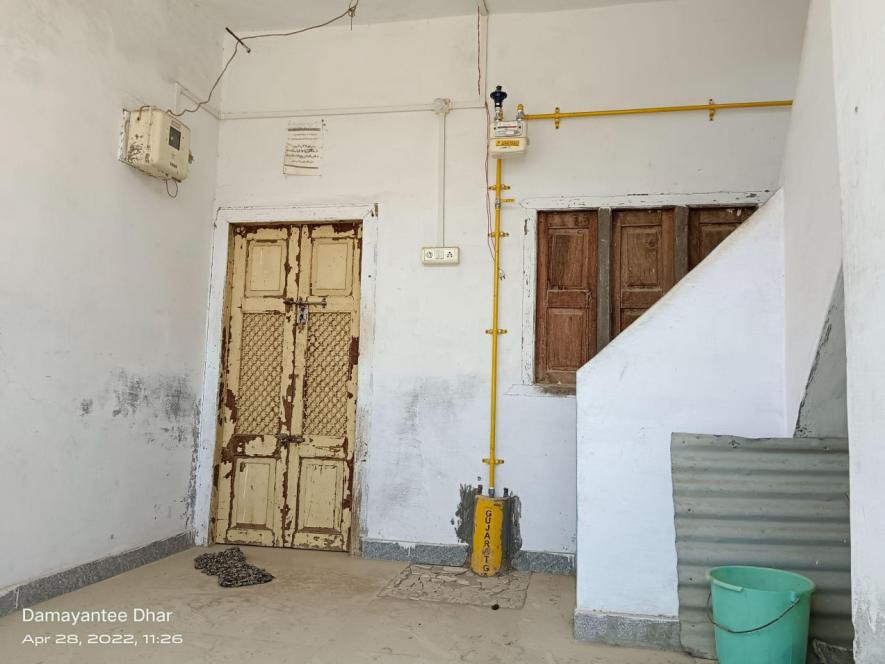
[[[232,238],[215,487],[221,542],[283,544],[285,406],[295,351],[294,313],[285,298],[298,287],[287,266],[299,251],[294,228],[240,228]]]

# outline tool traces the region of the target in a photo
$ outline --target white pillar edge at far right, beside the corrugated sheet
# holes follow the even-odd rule
[[[885,660],[885,4],[833,0],[842,175],[855,661]]]

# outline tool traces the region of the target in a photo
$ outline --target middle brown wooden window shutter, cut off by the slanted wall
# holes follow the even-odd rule
[[[618,210],[612,233],[612,336],[673,287],[672,209]]]

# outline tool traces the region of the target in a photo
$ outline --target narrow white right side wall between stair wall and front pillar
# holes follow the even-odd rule
[[[795,424],[842,262],[829,0],[811,2],[782,181],[786,410]]]

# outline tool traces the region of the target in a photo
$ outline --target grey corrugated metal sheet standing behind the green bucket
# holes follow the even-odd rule
[[[682,645],[715,657],[707,570],[761,565],[817,585],[811,634],[851,645],[848,441],[673,434]]]

